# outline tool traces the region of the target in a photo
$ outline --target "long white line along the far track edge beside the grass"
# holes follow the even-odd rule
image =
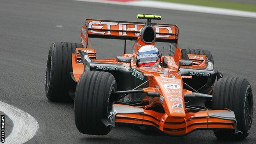
[[[228,15],[228,16],[242,16],[242,17],[256,18],[256,12],[222,9],[222,8],[215,8],[215,7],[203,7],[203,6],[196,6],[196,5],[185,5],[185,4],[178,4],[178,3],[172,3],[172,2],[158,2],[158,1],[151,1],[151,0],[135,0],[130,2],[117,2],[117,1],[108,1],[108,0],[76,0],[76,1],[99,2],[99,3],[107,3],[107,4],[114,4],[114,5],[129,5],[129,6],[151,7],[151,8],[160,8],[160,9],[174,9],[174,10],[193,11],[193,12],[208,13],[208,14],[221,14],[221,15]]]

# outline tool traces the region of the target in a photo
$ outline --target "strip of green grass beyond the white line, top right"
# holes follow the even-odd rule
[[[242,2],[227,2],[227,1],[220,1],[220,0],[157,0],[157,1],[256,12],[256,5],[242,3]]]

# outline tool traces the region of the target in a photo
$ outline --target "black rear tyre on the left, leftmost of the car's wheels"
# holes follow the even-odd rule
[[[50,46],[46,66],[45,91],[50,101],[72,101],[69,91],[75,91],[72,80],[72,53],[82,48],[79,43],[55,42]]]

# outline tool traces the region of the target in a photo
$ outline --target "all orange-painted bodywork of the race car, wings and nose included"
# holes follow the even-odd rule
[[[140,107],[144,110],[143,113],[117,114],[114,121],[116,124],[153,126],[169,135],[185,135],[196,129],[235,129],[235,121],[233,120],[209,117],[210,112],[229,112],[228,110],[205,110],[199,112],[188,112],[189,110],[185,108],[184,94],[192,94],[192,91],[183,89],[183,78],[192,78],[192,76],[181,76],[178,73],[178,63],[179,60],[181,60],[180,48],[176,48],[173,56],[162,56],[161,62],[163,62],[163,59],[167,59],[168,63],[166,67],[137,67],[133,59],[131,64],[125,62],[117,62],[116,58],[96,59],[96,50],[93,48],[87,48],[88,35],[91,35],[92,37],[96,37],[97,35],[101,35],[103,37],[118,37],[121,35],[122,37],[129,37],[131,39],[136,38],[136,41],[133,45],[133,54],[123,53],[122,56],[124,57],[136,57],[136,53],[141,46],[146,44],[154,45],[155,42],[143,43],[143,41],[140,39],[140,33],[137,33],[137,31],[142,29],[143,24],[118,23],[117,21],[106,23],[101,20],[87,20],[87,22],[89,23],[89,30],[87,29],[87,25],[82,25],[81,32],[81,44],[84,46],[84,48],[76,48],[75,53],[72,54],[73,76],[76,82],[78,82],[80,76],[85,71],[84,64],[79,62],[81,61],[81,57],[78,53],[78,50],[84,50],[88,53],[92,62],[123,64],[127,67],[130,67],[130,69],[134,69],[134,71],[142,72],[144,77],[151,79],[149,80],[149,87],[144,88],[143,92],[158,92],[160,94],[160,96],[155,97],[146,96],[142,100],[149,101],[149,105]],[[156,39],[174,39],[176,42],[178,42],[178,27],[176,25],[153,26],[157,32],[162,33],[156,35]],[[206,68],[207,57],[205,55],[188,54],[188,57],[190,60],[192,60],[193,65],[181,66],[182,68]],[[160,113],[153,110],[148,110],[154,105],[162,105],[165,112]]]

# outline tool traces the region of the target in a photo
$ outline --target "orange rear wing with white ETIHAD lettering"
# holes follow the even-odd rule
[[[85,20],[82,25],[81,43],[87,48],[88,37],[106,39],[137,40],[145,23],[128,21]],[[151,23],[159,42],[177,43],[178,27],[169,24]]]

